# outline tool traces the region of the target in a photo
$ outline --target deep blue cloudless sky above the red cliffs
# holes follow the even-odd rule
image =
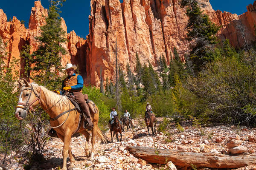
[[[122,0],[120,0],[122,2]],[[229,11],[231,13],[242,14],[247,11],[246,6],[254,0],[210,0],[214,10]],[[48,0],[41,0],[44,8],[49,7]],[[28,27],[31,8],[34,0],[1,0],[0,8],[7,15],[7,20],[13,16],[18,20],[24,20]],[[67,31],[75,30],[80,37],[86,38],[89,33],[90,0],[67,0],[61,7],[61,17],[67,24]]]

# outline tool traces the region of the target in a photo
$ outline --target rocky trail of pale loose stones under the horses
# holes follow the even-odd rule
[[[255,154],[256,151],[256,128],[218,125],[198,129],[192,126],[191,121],[186,121],[181,123],[184,128],[182,132],[175,127],[175,123],[172,121],[165,133],[157,132],[155,136],[148,136],[143,119],[133,122],[133,130],[127,131],[125,127],[125,133],[122,133],[122,142],[117,142],[114,137],[113,143],[102,144],[97,139],[94,161],[90,161],[85,156],[85,137],[72,137],[71,146],[76,159],[74,170],[165,170],[168,168],[167,166],[173,168],[171,163],[167,165],[148,164],[142,159],[137,159],[126,150],[127,146],[175,149],[192,153]],[[163,118],[157,118],[157,130],[161,123],[163,123]],[[108,141],[111,141],[109,130],[105,132],[105,136]],[[90,146],[91,144],[89,144]],[[61,139],[50,139],[47,142],[47,147],[50,150],[44,154],[47,161],[35,164],[32,170],[58,170],[62,167],[63,143]],[[68,167],[69,165],[70,162]],[[14,169],[22,169],[21,166],[18,165]],[[256,166],[241,167],[239,170],[256,170]]]

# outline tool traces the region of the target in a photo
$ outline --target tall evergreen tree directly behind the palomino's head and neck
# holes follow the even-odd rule
[[[39,42],[38,50],[32,55],[35,67],[33,71],[37,71],[35,78],[37,82],[47,86],[49,89],[55,89],[61,84],[58,72],[61,68],[61,55],[66,54],[61,43],[67,41],[64,38],[65,32],[61,28],[61,17],[58,5],[62,6],[65,0],[50,0],[48,17],[45,18],[46,24],[41,26],[41,36],[35,37]],[[38,74],[39,72],[39,74]],[[34,78],[34,79],[35,79]]]

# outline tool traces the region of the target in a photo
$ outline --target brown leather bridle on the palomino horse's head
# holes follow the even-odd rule
[[[31,85],[31,84],[30,84],[30,85]],[[39,88],[40,88],[40,87],[39,87]],[[36,101],[38,101],[39,104],[41,104],[40,94],[41,94],[42,89],[40,88],[39,94],[36,94],[36,93],[35,93],[35,90],[34,90],[34,88],[33,88],[32,85],[31,85],[31,88],[25,88],[25,89],[23,89],[22,91],[24,91],[24,90],[30,90],[29,99],[30,99],[31,94],[32,94],[32,91],[33,91],[34,94],[35,94],[35,96],[36,96],[36,99],[33,100],[33,101],[30,102],[30,103],[29,103],[29,99],[28,99],[28,100],[26,101],[26,104],[21,103],[21,102],[18,102],[18,105],[16,106],[16,108],[22,108],[22,109],[28,111],[29,113],[31,113],[31,110],[32,110],[32,111],[35,111],[35,109],[32,107],[33,103],[35,103]],[[21,106],[20,106],[20,105],[21,105]]]

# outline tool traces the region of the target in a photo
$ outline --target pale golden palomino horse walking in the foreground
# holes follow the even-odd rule
[[[64,142],[62,156],[63,168],[67,170],[67,154],[70,157],[70,169],[73,169],[75,159],[72,155],[70,141],[73,133],[80,132],[86,137],[85,153],[90,160],[93,160],[93,147],[95,143],[95,136],[98,136],[102,142],[106,142],[102,131],[98,127],[99,109],[96,106],[96,113],[91,112],[93,128],[92,128],[92,148],[91,153],[88,148],[90,133],[84,129],[82,125],[79,126],[80,113],[73,109],[74,106],[67,98],[67,96],[58,95],[52,91],[47,90],[43,86],[35,83],[28,83],[26,79],[19,81],[20,85],[20,98],[16,106],[15,116],[17,119],[25,119],[30,110],[34,111],[34,107],[38,104],[46,111],[51,117],[50,124],[56,130],[58,137]]]

